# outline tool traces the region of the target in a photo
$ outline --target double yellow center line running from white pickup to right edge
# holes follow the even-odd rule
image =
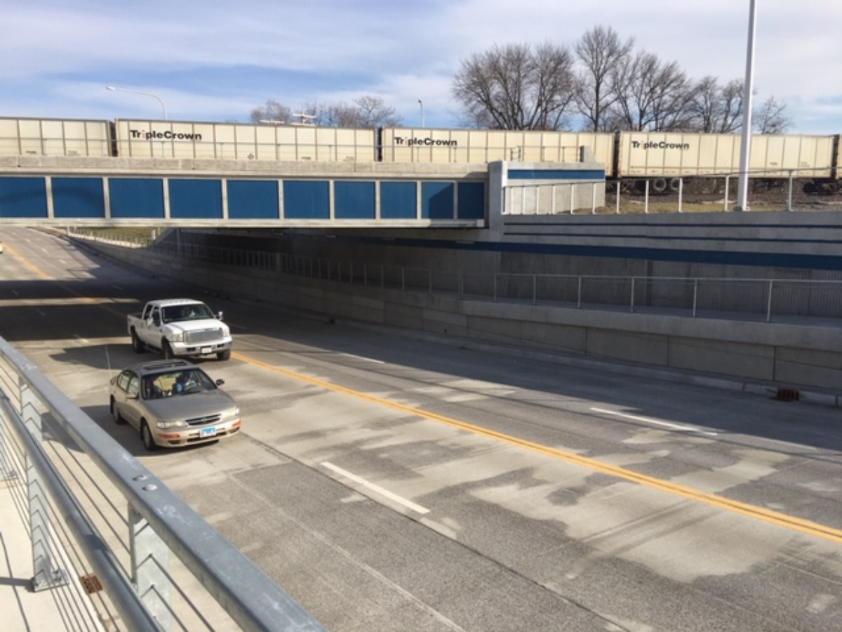
[[[248,364],[251,364],[255,367],[261,367],[275,373],[280,373],[281,375],[285,375],[288,378],[310,383],[315,386],[334,391],[336,393],[349,395],[356,399],[363,399],[372,404],[385,406],[386,408],[391,408],[392,410],[397,410],[408,415],[415,415],[418,417],[423,417],[424,419],[438,421],[442,424],[445,424],[446,426],[452,426],[460,430],[472,432],[473,434],[480,437],[488,437],[498,442],[508,443],[509,445],[529,450],[530,452],[543,454],[552,458],[557,458],[567,463],[572,463],[573,465],[578,465],[580,467],[591,469],[596,472],[601,472],[603,474],[610,474],[611,476],[615,476],[616,478],[625,479],[631,481],[632,483],[637,483],[638,485],[645,485],[655,490],[661,490],[672,495],[678,495],[683,498],[688,498],[691,501],[702,502],[706,505],[718,507],[719,509],[732,511],[733,513],[738,513],[743,516],[763,520],[765,522],[770,522],[771,524],[775,524],[779,527],[793,529],[801,533],[807,533],[807,535],[813,535],[818,538],[823,538],[831,540],[838,544],[842,544],[842,530],[840,529],[827,527],[825,525],[821,525],[816,522],[810,522],[807,520],[802,520],[801,518],[797,517],[787,516],[784,513],[770,511],[768,509],[764,509],[763,507],[749,505],[744,502],[733,501],[731,499],[724,498],[723,496],[708,494],[703,491],[694,490],[691,487],[685,487],[684,485],[676,485],[674,483],[670,483],[667,480],[655,479],[652,476],[647,476],[646,474],[638,474],[637,472],[634,472],[631,469],[621,468],[616,465],[610,465],[608,463],[601,463],[600,461],[597,461],[593,458],[581,457],[575,453],[559,450],[555,447],[544,446],[541,445],[541,443],[526,441],[525,439],[521,439],[520,437],[507,435],[504,432],[488,430],[488,428],[483,428],[482,426],[474,426],[473,424],[468,424],[464,421],[452,419],[450,417],[445,417],[445,415],[437,415],[436,413],[415,408],[414,406],[398,404],[397,402],[393,402],[388,399],[382,399],[374,395],[361,393],[360,391],[355,391],[352,388],[345,388],[344,386],[339,386],[338,384],[326,382],[318,378],[312,378],[310,376],[303,375],[302,373],[298,373],[295,371],[290,371],[289,369],[278,367],[274,364],[269,364],[268,362],[261,362],[259,360],[255,360],[253,357],[244,356],[242,355],[242,353],[234,352],[232,353],[232,357],[237,358],[237,360],[240,360],[241,362],[247,362]]]

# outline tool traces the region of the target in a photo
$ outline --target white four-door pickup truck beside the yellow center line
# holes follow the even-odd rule
[[[127,317],[131,346],[142,353],[147,346],[159,349],[165,358],[209,356],[231,357],[231,329],[201,301],[165,298],[150,301],[141,313]]]

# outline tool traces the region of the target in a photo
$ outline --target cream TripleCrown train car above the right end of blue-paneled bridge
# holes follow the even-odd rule
[[[612,163],[612,133],[534,130],[448,130],[428,127],[383,127],[380,131],[384,163],[573,163],[589,160]]]

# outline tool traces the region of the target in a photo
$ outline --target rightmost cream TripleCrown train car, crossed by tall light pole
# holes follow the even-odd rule
[[[742,137],[737,134],[618,132],[616,179],[648,179],[655,193],[678,188],[679,178],[737,176]],[[754,134],[749,177],[835,178],[838,137]],[[808,185],[805,185],[807,187]]]

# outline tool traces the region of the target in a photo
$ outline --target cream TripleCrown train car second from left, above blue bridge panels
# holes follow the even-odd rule
[[[314,162],[376,159],[376,130],[189,121],[115,121],[122,158]]]

